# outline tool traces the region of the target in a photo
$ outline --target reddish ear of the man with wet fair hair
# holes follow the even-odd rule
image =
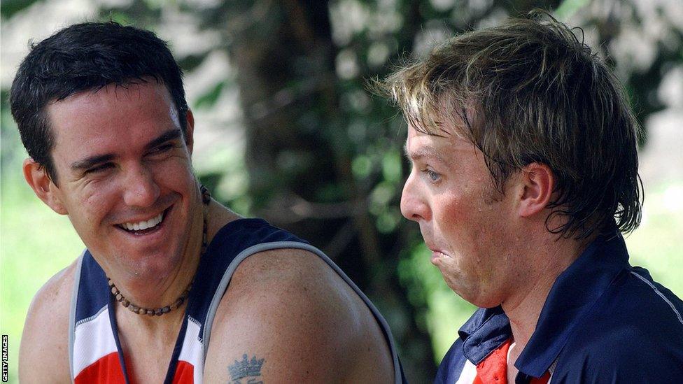
[[[531,163],[521,169],[519,215],[524,218],[543,211],[555,189],[555,175],[549,166]]]

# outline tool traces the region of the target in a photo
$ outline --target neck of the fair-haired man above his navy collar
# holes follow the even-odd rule
[[[535,331],[555,280],[581,255],[587,244],[586,241],[557,239],[556,235],[546,233],[539,241],[529,241],[523,247],[527,253],[527,271],[523,281],[517,282],[510,291],[512,294],[501,305],[510,320],[517,351],[523,350]]]

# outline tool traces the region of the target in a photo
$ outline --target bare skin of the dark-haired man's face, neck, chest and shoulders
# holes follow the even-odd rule
[[[194,120],[181,127],[164,85],[149,80],[80,92],[48,106],[58,182],[31,159],[24,176],[36,195],[73,227],[120,292],[139,306],[173,302],[192,280],[204,206],[192,172]],[[209,241],[238,215],[211,201]],[[132,234],[127,225],[160,225]],[[20,348],[24,383],[68,383],[68,319],[75,264],[36,294]],[[166,375],[185,306],[163,316],[115,306],[133,383]],[[393,381],[393,362],[365,303],[317,256],[258,253],[240,264],[211,332],[204,378],[230,382],[243,355],[263,359],[263,383]]]

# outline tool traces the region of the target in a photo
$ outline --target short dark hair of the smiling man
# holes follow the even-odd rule
[[[153,78],[166,85],[185,134],[188,104],[183,73],[167,44],[144,29],[116,22],[66,27],[31,46],[12,83],[10,104],[29,156],[57,183],[54,134],[45,106],[78,92]]]

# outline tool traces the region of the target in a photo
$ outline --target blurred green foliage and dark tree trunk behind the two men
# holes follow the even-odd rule
[[[3,20],[33,3],[3,1]],[[474,308],[444,284],[429,262],[418,226],[400,215],[402,183],[409,171],[402,159],[405,125],[393,106],[367,92],[367,79],[386,76],[394,64],[419,57],[434,36],[495,24],[532,8],[555,8],[559,20],[582,20],[607,54],[610,41],[640,27],[641,15],[633,10],[633,1],[621,3],[632,12],[623,20],[616,17],[616,24],[609,13],[593,15],[586,0],[282,4],[133,0],[101,8],[101,19],[153,30],[192,20],[191,30],[218,36],[216,43],[197,40],[200,48],[176,58],[189,78],[212,52],[231,57],[241,72],[217,73],[199,97],[188,101],[197,112],[216,111],[225,108],[226,94],[239,88],[244,121],[237,125],[247,136],[246,155],[227,148],[212,148],[210,155],[195,151],[200,180],[234,211],[265,216],[276,225],[282,220],[281,226],[337,255],[336,261],[386,316],[409,378],[430,381],[432,361],[441,359]],[[663,108],[656,90],[663,75],[683,62],[682,31],[664,22],[658,25],[670,33],[666,42],[656,42],[652,64],[621,73],[640,121]],[[19,340],[30,297],[78,255],[82,244],[66,218],[49,211],[24,187],[17,171],[24,153],[6,97],[3,90],[0,320],[3,334],[10,334],[10,370],[15,372],[18,345],[11,343]],[[679,296],[683,219],[664,201],[682,188],[675,180],[649,192],[647,207],[652,209],[642,228],[627,239],[634,264],[649,268]],[[309,216],[293,215],[288,211],[291,199],[316,209]]]

